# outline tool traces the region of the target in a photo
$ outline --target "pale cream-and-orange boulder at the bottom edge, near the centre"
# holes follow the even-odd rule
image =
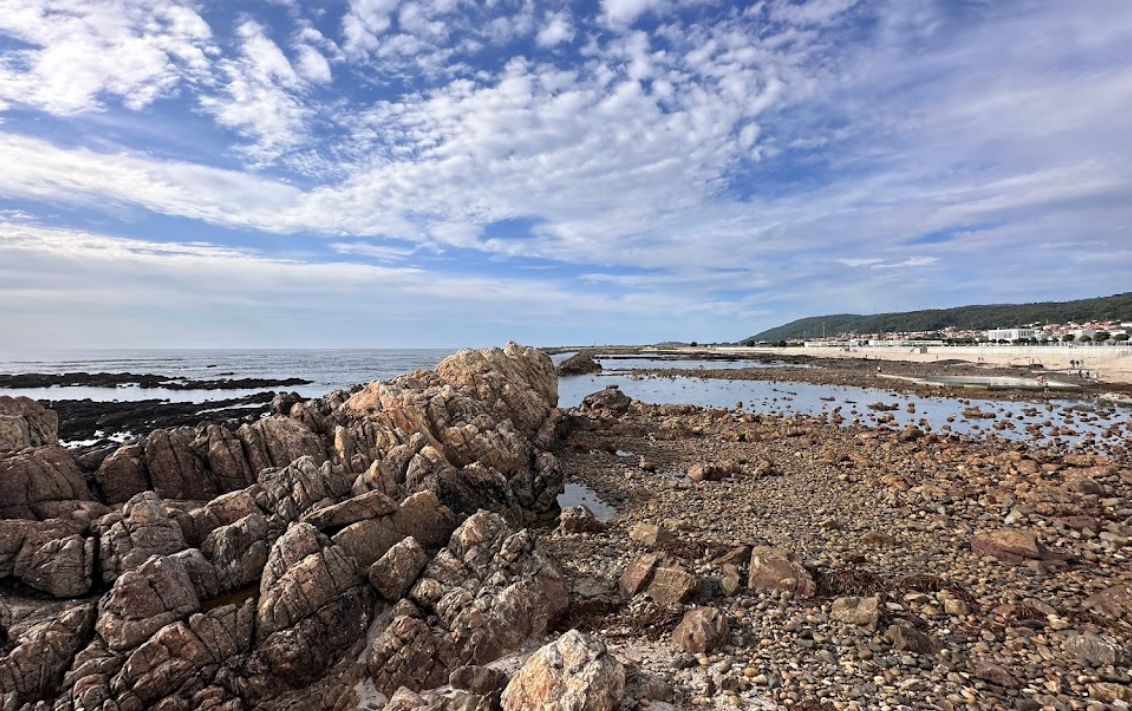
[[[625,668],[599,640],[571,629],[541,648],[503,692],[504,711],[615,711]]]

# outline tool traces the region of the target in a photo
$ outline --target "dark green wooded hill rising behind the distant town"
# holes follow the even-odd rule
[[[950,309],[926,309],[893,314],[833,314],[799,318],[783,326],[771,328],[744,339],[743,343],[761,343],[804,337],[829,336],[839,333],[881,333],[909,331],[942,331],[1011,328],[1028,324],[1065,324],[1090,320],[1132,320],[1132,292],[1080,299],[1078,301],[1046,301],[1041,303],[989,303],[957,306]]]

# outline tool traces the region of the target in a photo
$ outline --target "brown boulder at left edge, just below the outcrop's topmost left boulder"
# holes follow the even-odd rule
[[[55,519],[91,500],[75,459],[58,445],[0,457],[0,519]]]

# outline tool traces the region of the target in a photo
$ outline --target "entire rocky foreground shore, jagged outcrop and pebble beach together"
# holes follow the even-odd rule
[[[514,344],[104,457],[0,399],[0,710],[1132,703],[1126,452],[556,405]]]

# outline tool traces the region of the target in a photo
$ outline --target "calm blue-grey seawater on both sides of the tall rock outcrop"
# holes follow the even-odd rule
[[[71,351],[41,357],[0,357],[0,372],[137,372],[161,374],[185,379],[220,378],[305,378],[310,385],[286,388],[295,389],[307,397],[318,397],[332,389],[350,387],[375,379],[388,379],[417,369],[431,369],[452,350],[194,350],[194,351]],[[563,353],[554,357],[560,362],[569,357]],[[1126,420],[1129,408],[1108,405],[1094,413],[1081,413],[1071,408],[1094,408],[1094,403],[1080,400],[1055,400],[1052,409],[1045,403],[1026,402],[1024,395],[1015,402],[980,400],[977,397],[920,397],[895,394],[883,388],[812,385],[808,383],[772,383],[762,380],[723,380],[713,378],[658,378],[642,377],[635,370],[651,367],[703,367],[705,370],[720,368],[751,367],[753,362],[728,363],[721,361],[652,361],[646,359],[603,360],[607,370],[593,376],[560,378],[559,405],[577,405],[582,399],[607,385],[617,384],[627,395],[650,403],[687,403],[702,406],[734,408],[743,403],[751,412],[781,414],[822,414],[839,411],[846,422],[859,419],[872,422],[877,418],[893,418],[897,425],[928,425],[935,431],[950,429],[954,432],[978,435],[994,434],[1015,439],[1029,439],[1026,425],[1067,426],[1078,432],[1065,436],[1075,440],[1084,432],[1100,432],[1113,421]],[[95,401],[128,401],[168,399],[178,402],[208,402],[237,397],[257,391],[170,391],[140,389],[137,387],[52,387],[34,389],[0,389],[0,394],[26,395],[38,400],[77,400],[89,397]],[[881,402],[894,409],[877,412],[868,405]],[[915,412],[909,412],[909,405]],[[995,419],[967,419],[961,416],[963,408],[977,405],[984,412],[995,414]],[[1034,409],[1031,414],[1023,409]],[[1010,413],[1007,416],[1007,413]],[[950,420],[950,421],[949,421]],[[1011,429],[994,430],[994,422],[1010,422]]]

